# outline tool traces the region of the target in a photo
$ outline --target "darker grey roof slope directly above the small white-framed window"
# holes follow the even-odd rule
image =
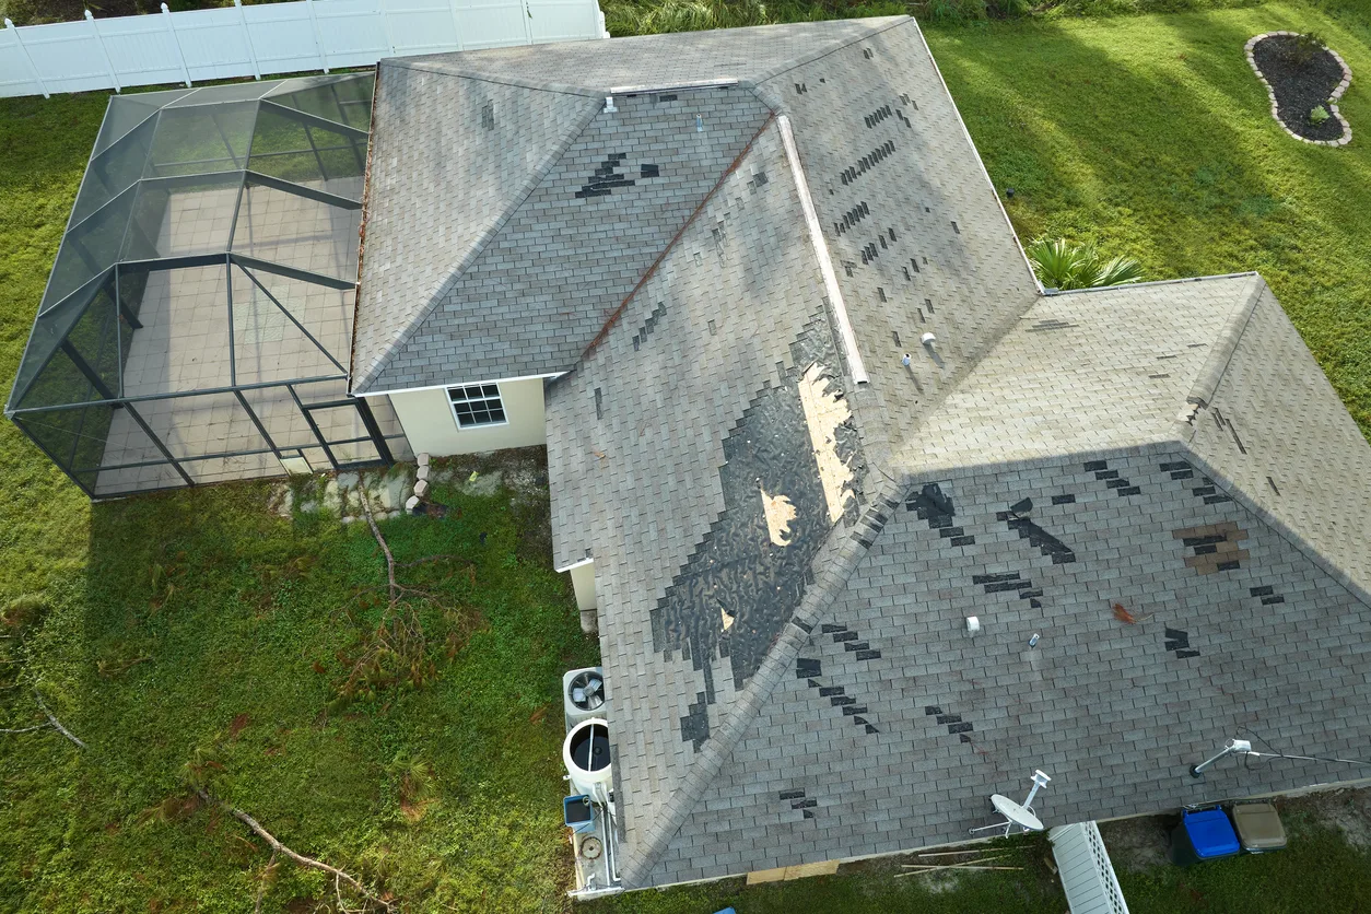
[[[738,88],[620,99],[411,325],[373,386],[557,374],[771,112]],[[502,112],[496,116],[518,116]]]

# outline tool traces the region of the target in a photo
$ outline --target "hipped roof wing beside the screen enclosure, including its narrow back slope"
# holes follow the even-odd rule
[[[753,81],[893,23],[383,60],[354,392],[574,367],[771,116]]]

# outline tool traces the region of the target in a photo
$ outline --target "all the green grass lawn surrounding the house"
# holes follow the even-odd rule
[[[1346,0],[1319,8],[927,32],[995,185],[1016,189],[1023,238],[1094,240],[1154,278],[1260,270],[1371,432],[1371,12]],[[1271,121],[1242,58],[1243,41],[1270,29],[1318,30],[1357,74],[1342,106],[1357,134],[1346,149],[1297,144]],[[104,104],[0,101],[3,392]],[[565,910],[557,687],[594,645],[537,539],[521,537],[536,533],[536,510],[448,491],[440,497],[461,517],[389,522],[402,560],[461,556],[406,571],[450,610],[428,619],[437,681],[328,713],[348,650],[374,621],[354,591],[383,580],[381,556],[365,528],[273,515],[269,491],[92,508],[0,423],[0,608],[25,593],[45,607],[0,632],[0,687],[36,681],[90,747],[52,732],[0,736],[0,910],[251,910],[267,852],[222,815],[175,802],[197,751],[222,766],[217,789],[281,839],[380,880],[409,910]],[[448,659],[447,632],[473,622]],[[27,689],[0,688],[0,726],[38,719]],[[415,821],[400,807],[407,761],[436,784]],[[1283,856],[1156,870],[1124,887],[1137,911],[1234,910],[1235,898],[1256,911],[1371,906],[1366,854],[1305,835]],[[746,891],[729,881],[598,907],[1063,907],[1036,863],[943,892],[888,873],[871,865]],[[263,907],[325,895],[321,878],[281,867]]]

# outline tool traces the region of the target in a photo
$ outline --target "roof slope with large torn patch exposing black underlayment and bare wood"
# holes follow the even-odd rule
[[[655,684],[617,699],[628,843],[755,673],[835,518],[857,511],[865,465],[835,363],[772,123],[548,393],[555,562],[594,556],[606,669]]]

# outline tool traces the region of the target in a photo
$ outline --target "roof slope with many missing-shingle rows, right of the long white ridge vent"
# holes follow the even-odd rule
[[[786,70],[758,95],[794,122],[871,375],[854,402],[862,436],[873,452],[898,449],[1032,304],[1032,271],[913,21]]]

